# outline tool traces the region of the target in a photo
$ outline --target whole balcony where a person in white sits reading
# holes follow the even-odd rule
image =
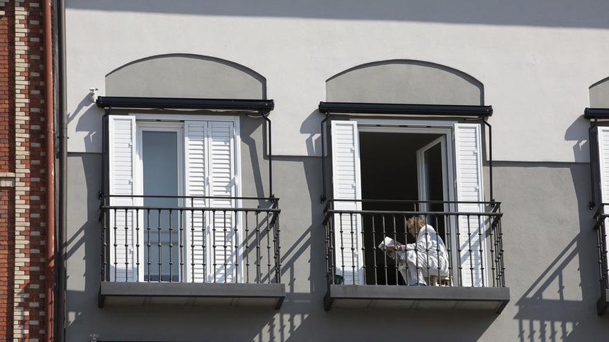
[[[329,200],[325,309],[500,313],[509,302],[501,217],[498,202]]]

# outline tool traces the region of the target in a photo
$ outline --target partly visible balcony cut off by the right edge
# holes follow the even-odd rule
[[[609,214],[604,213],[605,206],[609,203],[602,203],[599,211],[594,215],[594,231],[597,233],[597,251],[599,255],[599,284],[601,287],[601,297],[597,301],[597,313],[604,314],[609,305],[609,267],[607,263],[607,225]]]

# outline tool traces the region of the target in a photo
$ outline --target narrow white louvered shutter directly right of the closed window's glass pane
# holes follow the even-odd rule
[[[187,196],[206,196],[207,171],[206,171],[206,121],[187,121],[184,123],[184,149],[185,149],[185,187]],[[204,198],[187,200],[187,207],[208,207],[208,201]],[[188,267],[188,281],[202,283],[206,281],[207,258],[205,240],[206,213],[203,211],[188,211],[187,222],[187,244],[188,254],[185,265]]]

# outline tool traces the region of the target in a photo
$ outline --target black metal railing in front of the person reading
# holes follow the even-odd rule
[[[501,217],[499,202],[329,200],[328,283],[505,287]]]

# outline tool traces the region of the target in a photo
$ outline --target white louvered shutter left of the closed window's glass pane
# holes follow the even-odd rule
[[[110,195],[134,195],[134,151],[136,120],[131,115],[110,116],[109,189]],[[134,205],[131,197],[111,197],[111,206]],[[116,209],[110,219],[110,278],[111,281],[138,281],[136,269],[134,211]]]

